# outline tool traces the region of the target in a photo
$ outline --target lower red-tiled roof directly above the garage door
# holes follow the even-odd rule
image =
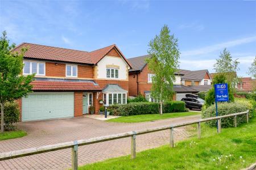
[[[35,80],[30,83],[33,91],[101,91],[102,88],[93,82],[64,82]]]

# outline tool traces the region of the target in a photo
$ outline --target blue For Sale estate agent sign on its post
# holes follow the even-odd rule
[[[216,107],[216,117],[218,116],[218,102],[219,101],[229,101],[229,90],[228,83],[214,84],[215,91],[215,107]],[[217,120],[217,130],[218,130],[218,120]]]

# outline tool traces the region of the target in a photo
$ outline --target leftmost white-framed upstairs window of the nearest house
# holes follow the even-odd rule
[[[46,75],[46,63],[36,61],[24,61],[23,74]]]

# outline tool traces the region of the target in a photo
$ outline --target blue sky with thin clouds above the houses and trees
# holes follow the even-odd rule
[[[3,1],[0,31],[11,42],[91,51],[117,44],[126,58],[147,54],[167,24],[179,39],[180,68],[208,69],[226,47],[239,76],[256,56],[256,1]]]

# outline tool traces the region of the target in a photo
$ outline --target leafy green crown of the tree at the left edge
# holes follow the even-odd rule
[[[26,49],[20,53],[11,52],[14,48],[9,45],[6,32],[0,38],[0,103],[20,99],[32,92],[32,82],[34,75],[19,75],[23,69],[23,56]]]

